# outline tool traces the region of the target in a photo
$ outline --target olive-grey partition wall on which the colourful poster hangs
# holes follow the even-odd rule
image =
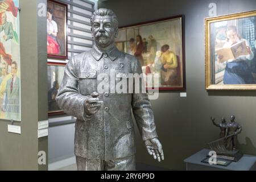
[[[38,152],[45,151],[48,138],[38,139],[38,121],[47,115],[46,16],[38,16],[39,3],[21,0],[20,6],[20,94],[21,134],[7,132],[10,121],[0,119],[0,170],[47,170],[38,164]]]

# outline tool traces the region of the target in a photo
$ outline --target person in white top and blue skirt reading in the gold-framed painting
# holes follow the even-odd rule
[[[254,57],[249,43],[246,39],[241,39],[237,32],[236,26],[229,26],[226,30],[227,42],[224,44],[224,48],[232,47],[236,43],[245,41],[247,55],[238,56],[237,59],[229,59],[226,62],[226,68],[224,73],[224,84],[255,84],[255,80],[247,63],[248,60],[252,60]],[[217,61],[222,59],[222,55],[217,56]]]

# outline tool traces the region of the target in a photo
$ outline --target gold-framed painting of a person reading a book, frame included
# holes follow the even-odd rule
[[[205,19],[207,90],[256,90],[256,11]]]

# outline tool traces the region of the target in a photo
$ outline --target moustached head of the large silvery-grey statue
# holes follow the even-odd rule
[[[90,19],[92,36],[98,47],[108,47],[114,43],[118,35],[118,20],[112,10],[98,9]]]

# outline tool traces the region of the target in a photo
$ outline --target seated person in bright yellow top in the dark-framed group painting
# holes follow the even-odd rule
[[[169,48],[167,44],[161,48],[160,60],[162,63],[161,78],[163,85],[171,85],[177,75],[177,56]]]

